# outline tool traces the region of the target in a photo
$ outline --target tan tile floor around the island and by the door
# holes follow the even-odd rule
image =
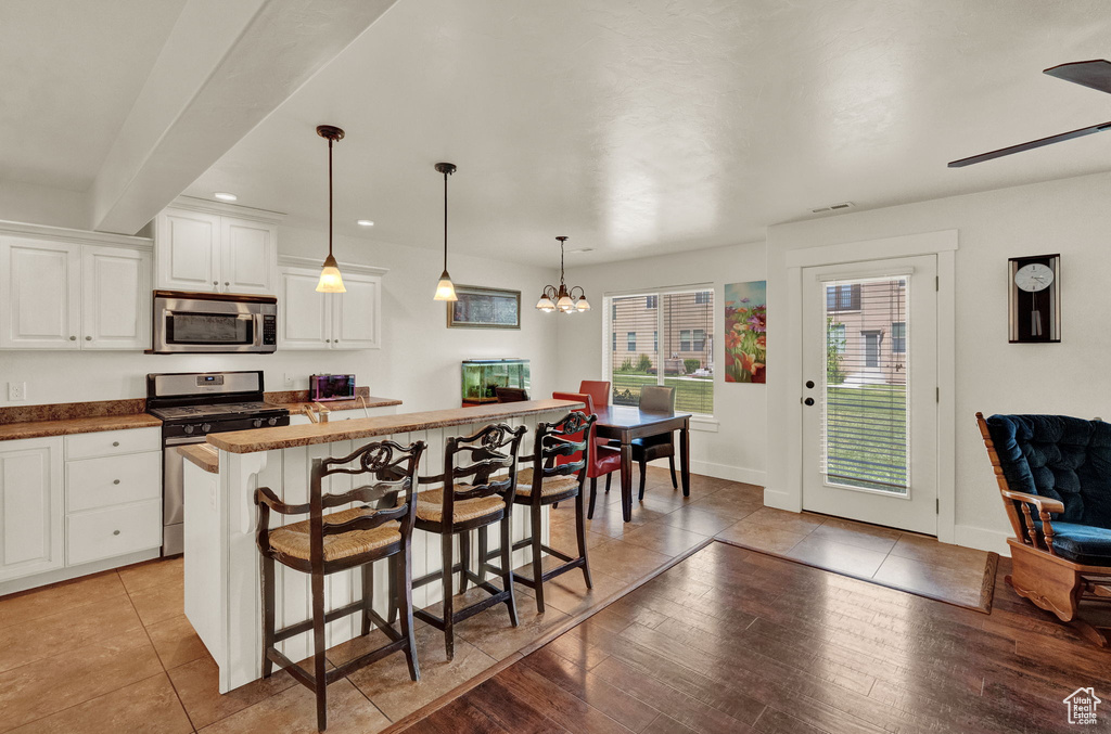
[[[410,682],[393,655],[332,684],[328,731],[381,731],[714,535],[908,590],[979,593],[982,553],[771,510],[762,496],[758,486],[693,476],[683,497],[667,471],[650,467],[631,523],[621,522],[615,487],[598,499],[588,534],[593,590],[580,572],[560,576],[546,584],[548,611],[538,615],[532,591],[518,585],[520,627],[509,626],[502,605],[476,615],[457,626],[450,664],[442,636],[418,624],[421,682]],[[574,547],[573,503],[552,512],[551,540]],[[288,673],[217,692],[217,666],[183,614],[182,585],[174,559],[0,599],[0,733],[316,731],[312,696]],[[604,625],[608,614],[592,619]],[[380,636],[339,645],[329,660],[350,660]]]

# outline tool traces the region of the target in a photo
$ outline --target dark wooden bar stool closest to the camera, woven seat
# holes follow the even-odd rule
[[[413,640],[412,553],[411,541],[416,520],[414,477],[424,442],[401,446],[393,441],[370,443],[349,456],[314,459],[307,504],[286,504],[270,490],[254,491],[259,507],[258,545],[262,553],[262,677],[270,677],[273,664],[289,671],[297,681],[317,694],[317,726],[328,726],[328,684],[333,683],[391,653],[404,652],[409,675],[420,680],[417,646]],[[354,463],[354,467],[348,464]],[[370,475],[370,483],[342,494],[323,494],[322,480],[332,474]],[[352,502],[371,503],[386,499],[389,505],[404,493],[403,501],[390,509],[374,510],[356,506],[326,514],[328,507]],[[309,513],[309,519],[271,529],[270,511],[282,515]],[[403,593],[396,602],[401,606],[401,631],[397,632],[373,609],[372,562],[390,559],[394,585]],[[274,630],[274,562],[311,574],[312,619],[283,630]],[[363,597],[346,606],[324,612],[324,576],[338,571],[362,566]],[[392,607],[392,604],[391,604]],[[324,670],[324,625],[349,614],[362,614],[362,634],[377,624],[390,639],[378,650],[344,663],[330,672]],[[390,614],[392,616],[392,613]],[[312,630],[313,673],[307,673],[274,646],[282,640]]]

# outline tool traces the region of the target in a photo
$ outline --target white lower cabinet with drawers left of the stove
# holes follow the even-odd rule
[[[117,556],[153,557],[161,545],[159,429],[0,442],[0,594],[103,571]]]

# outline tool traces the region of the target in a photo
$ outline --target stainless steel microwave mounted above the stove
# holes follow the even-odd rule
[[[278,299],[154,291],[150,353],[269,353],[278,348]]]

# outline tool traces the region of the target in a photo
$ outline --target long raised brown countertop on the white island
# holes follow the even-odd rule
[[[529,400],[520,403],[492,403],[476,408],[453,408],[421,413],[400,413],[379,418],[360,418],[336,423],[310,423],[308,425],[286,425],[212,433],[208,442],[217,449],[237,454],[258,451],[276,451],[293,446],[309,446],[333,441],[350,441],[391,433],[408,433],[451,425],[498,422],[508,418],[550,413],[559,410],[582,408],[582,403],[571,400]]]

